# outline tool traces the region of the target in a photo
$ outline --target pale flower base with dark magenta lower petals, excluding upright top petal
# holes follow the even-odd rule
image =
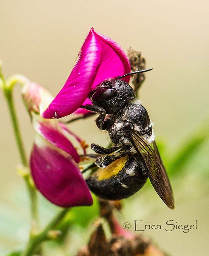
[[[39,115],[52,101],[43,87],[28,82],[22,94],[36,131],[30,157],[36,187],[50,202],[62,207],[91,205],[90,190],[77,166],[79,155],[69,139],[79,144],[81,140],[57,120]]]

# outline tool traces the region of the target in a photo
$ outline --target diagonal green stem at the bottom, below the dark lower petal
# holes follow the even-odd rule
[[[62,209],[53,219],[50,221],[50,223],[46,226],[46,228],[40,232],[37,235],[31,235],[30,240],[28,241],[27,247],[25,251],[21,254],[21,256],[31,256],[34,253],[36,253],[36,250],[38,250],[40,244],[43,241],[46,241],[50,239],[48,233],[50,230],[56,229],[60,221],[64,219],[66,216],[66,213],[68,213],[69,208]]]

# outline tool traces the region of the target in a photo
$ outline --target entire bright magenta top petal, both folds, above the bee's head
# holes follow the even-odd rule
[[[76,111],[86,104],[91,88],[110,77],[130,72],[129,60],[121,47],[107,36],[96,33],[91,28],[81,48],[79,60],[75,64],[64,87],[54,98],[44,118],[60,118]],[[129,77],[124,80],[129,82]],[[79,110],[79,113],[86,113]]]

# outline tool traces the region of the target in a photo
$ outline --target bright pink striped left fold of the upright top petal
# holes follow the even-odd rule
[[[74,112],[88,96],[101,62],[102,47],[90,31],[79,59],[64,87],[43,113],[44,118],[60,118]]]

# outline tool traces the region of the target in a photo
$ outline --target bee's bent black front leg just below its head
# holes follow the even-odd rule
[[[87,104],[85,106],[82,105],[80,107],[89,111],[99,113],[99,116],[95,120],[96,125],[100,130],[107,130],[109,121],[105,120],[106,111],[102,107],[90,104]]]

